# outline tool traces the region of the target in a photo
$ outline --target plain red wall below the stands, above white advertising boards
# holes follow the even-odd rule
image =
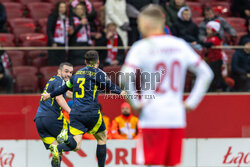
[[[100,96],[103,112],[111,119],[124,101]],[[39,95],[0,95],[0,139],[39,139],[33,122]],[[187,114],[187,138],[250,137],[250,94],[210,94]]]

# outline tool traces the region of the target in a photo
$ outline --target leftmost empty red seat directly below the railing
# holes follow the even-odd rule
[[[7,51],[7,54],[11,59],[12,67],[25,65],[25,57],[22,51]]]

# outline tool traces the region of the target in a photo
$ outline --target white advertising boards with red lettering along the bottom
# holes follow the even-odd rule
[[[107,143],[107,167],[136,167],[136,141]],[[249,167],[250,139],[186,139],[183,167]],[[78,152],[64,153],[62,167],[97,166],[96,141],[83,141]],[[40,140],[0,140],[0,167],[50,166],[51,154]],[[143,166],[137,166],[143,167]]]

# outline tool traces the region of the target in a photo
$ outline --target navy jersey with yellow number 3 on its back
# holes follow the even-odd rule
[[[98,93],[99,87],[104,85],[112,92],[120,94],[120,87],[114,85],[107,74],[99,68],[86,66],[76,72],[66,86],[73,87],[73,106],[70,114],[80,114],[99,110]]]

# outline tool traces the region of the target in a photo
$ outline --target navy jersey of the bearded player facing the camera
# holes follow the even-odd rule
[[[65,85],[64,80],[59,76],[53,76],[50,78],[48,83],[44,88],[44,93],[51,93],[59,87]],[[63,97],[66,98],[66,94],[63,94]],[[43,101],[42,98],[40,100],[40,104],[36,113],[36,118],[41,116],[56,116],[59,117],[61,115],[62,108],[58,105],[55,98],[51,98],[47,101]]]

